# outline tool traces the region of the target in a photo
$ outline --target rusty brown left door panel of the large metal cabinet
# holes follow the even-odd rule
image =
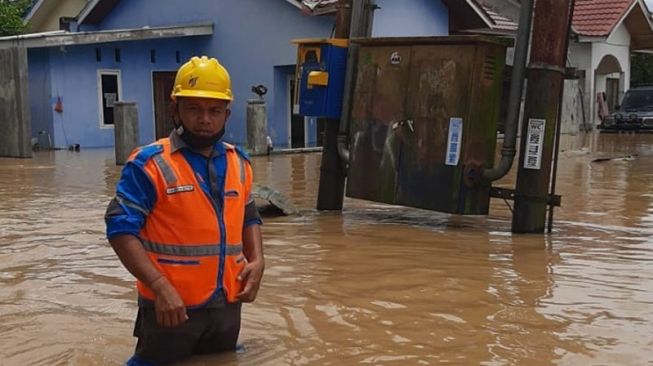
[[[392,53],[403,58],[387,67]],[[395,203],[399,142],[393,124],[405,118],[410,47],[363,47],[352,101],[347,195]]]

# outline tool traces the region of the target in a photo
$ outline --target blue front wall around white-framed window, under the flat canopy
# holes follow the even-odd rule
[[[195,53],[199,38],[51,48],[50,93],[53,100],[60,97],[64,106],[63,113],[52,112],[55,145],[113,146],[113,128],[100,126],[98,70],[120,71],[120,100],[138,103],[140,141],[153,141],[152,71],[175,71],[179,67],[176,51],[182,60],[187,58]],[[96,59],[96,48],[101,61]],[[115,60],[115,49],[120,49],[120,62]],[[156,63],[150,62],[150,50],[156,52]]]

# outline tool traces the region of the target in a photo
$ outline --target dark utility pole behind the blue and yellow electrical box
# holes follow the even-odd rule
[[[370,0],[339,0],[336,14],[335,38],[353,38],[371,35],[373,17],[373,1]],[[342,210],[345,195],[345,178],[347,176],[347,161],[338,152],[338,138],[349,126],[349,110],[356,72],[357,48],[349,46],[347,56],[347,71],[341,119],[325,121],[324,146],[322,163],[320,165],[320,185],[317,196],[318,210]]]

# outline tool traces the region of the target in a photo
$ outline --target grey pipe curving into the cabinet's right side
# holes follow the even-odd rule
[[[504,177],[510,171],[517,153],[517,126],[519,125],[519,111],[524,90],[526,75],[526,59],[531,38],[531,24],[533,21],[533,0],[522,0],[519,14],[519,28],[515,41],[515,57],[513,60],[512,80],[510,81],[510,96],[508,99],[508,116],[506,118],[505,134],[501,160],[492,169],[483,170],[483,179],[495,181]]]

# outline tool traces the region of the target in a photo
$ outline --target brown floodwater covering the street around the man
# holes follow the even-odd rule
[[[186,364],[653,364],[653,135],[562,149],[549,235],[511,234],[501,200],[487,217],[318,213],[319,154],[254,158],[303,214],[265,220],[244,351]],[[0,365],[130,357],[136,292],[103,222],[118,175],[112,150],[0,158]]]

